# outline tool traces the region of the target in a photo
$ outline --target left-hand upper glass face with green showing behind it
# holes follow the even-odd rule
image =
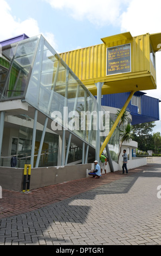
[[[5,77],[0,76],[0,100],[24,96],[33,65],[38,37],[2,47],[0,68]]]

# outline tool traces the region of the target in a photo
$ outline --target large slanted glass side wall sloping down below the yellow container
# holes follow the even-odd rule
[[[43,36],[40,39],[25,100],[53,120],[52,113],[59,112],[58,123],[61,126],[66,126],[63,123],[66,119],[68,130],[95,147],[98,106],[96,99]],[[73,111],[76,111],[76,115]],[[85,117],[85,129],[81,129],[81,112],[89,112],[89,117]],[[58,118],[55,123],[57,121]]]

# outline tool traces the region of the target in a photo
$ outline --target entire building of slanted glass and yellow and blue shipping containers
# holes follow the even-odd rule
[[[1,41],[0,165],[10,166],[12,156],[17,158],[16,167],[22,168],[25,163],[37,168],[93,161],[95,150],[104,143],[114,124],[115,116],[109,107],[122,108],[131,90],[134,95],[128,109],[132,124],[159,120],[158,99],[138,91],[156,88],[154,53],[158,36],[133,38],[128,32],[104,38],[101,45],[60,55],[42,35],[28,38],[23,34]],[[109,62],[107,70],[107,59],[114,58],[111,51],[127,54],[128,58],[113,60],[111,69]],[[125,64],[128,61],[129,67]],[[115,66],[119,62],[121,66]],[[113,73],[119,68],[124,72]],[[95,85],[100,82],[101,108],[98,97],[94,97],[98,91]],[[94,114],[81,117],[83,112],[99,111],[104,127],[101,136]],[[131,150],[136,147],[132,143]],[[118,152],[116,126],[104,153],[117,162]]]

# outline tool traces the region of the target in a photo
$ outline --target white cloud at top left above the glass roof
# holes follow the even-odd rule
[[[53,33],[41,32],[35,19],[29,17],[21,21],[17,17],[12,16],[11,8],[5,0],[0,0],[0,6],[0,41],[23,33],[29,37],[42,34],[53,48],[57,47]]]

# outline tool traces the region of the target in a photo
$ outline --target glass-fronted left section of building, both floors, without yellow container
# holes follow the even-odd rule
[[[20,168],[93,161],[99,124],[95,97],[42,35],[0,44],[0,165],[10,166],[12,157]],[[105,133],[99,135],[104,141],[113,120],[100,110],[103,127],[106,118]],[[116,153],[115,161],[118,128],[108,149]]]

